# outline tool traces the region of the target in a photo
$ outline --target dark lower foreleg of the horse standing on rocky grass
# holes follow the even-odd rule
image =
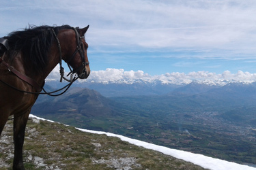
[[[31,109],[22,115],[14,115],[14,162],[13,169],[25,169],[23,165],[23,143],[25,128]]]

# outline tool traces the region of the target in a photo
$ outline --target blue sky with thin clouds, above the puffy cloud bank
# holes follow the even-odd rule
[[[2,0],[0,37],[29,27],[86,27],[92,71],[256,73],[254,0]]]

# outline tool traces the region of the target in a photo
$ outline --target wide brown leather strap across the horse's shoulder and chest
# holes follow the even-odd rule
[[[20,78],[21,80],[27,82],[28,84],[30,84],[31,86],[35,87],[37,92],[40,92],[42,90],[42,88],[38,85],[37,82],[35,82],[35,80],[27,77],[27,75],[24,75],[23,73],[20,73],[20,71],[14,69],[14,67],[10,66],[8,63],[6,63],[5,61],[3,61],[2,58],[0,58],[0,63],[3,63],[3,65],[5,65],[9,71],[11,71],[12,73],[14,73],[15,75],[17,75],[18,78]]]

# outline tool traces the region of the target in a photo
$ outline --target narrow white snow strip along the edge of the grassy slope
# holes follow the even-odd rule
[[[31,118],[37,118],[38,120],[46,120],[44,118],[39,118],[38,116],[34,116],[32,114],[29,115]],[[52,120],[46,120],[53,122]],[[212,169],[212,170],[256,170],[256,168],[249,167],[246,165],[240,165],[238,163],[231,163],[226,160],[221,160],[217,158],[211,158],[209,156],[204,156],[201,154],[193,154],[191,152],[186,152],[182,150],[174,150],[163,146],[157,146],[152,143],[147,143],[145,141],[139,141],[137,139],[130,139],[128,137],[124,137],[122,135],[115,135],[113,133],[106,133],[106,132],[100,132],[100,131],[91,131],[86,129],[79,129],[80,131],[87,132],[87,133],[96,133],[96,134],[104,134],[110,137],[119,137],[122,141],[128,141],[129,143],[132,143],[136,146],[141,146],[143,148],[147,148],[150,150],[156,150],[158,152],[162,152],[162,154],[167,154],[170,156],[173,156],[175,158],[179,158],[182,160],[186,160],[187,162],[193,163],[195,165],[199,165],[206,169]]]

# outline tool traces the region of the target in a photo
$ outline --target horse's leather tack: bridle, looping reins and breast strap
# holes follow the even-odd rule
[[[52,92],[46,92],[46,90],[44,90],[43,86],[44,84],[42,85],[42,88],[40,88],[40,85],[38,85],[37,82],[35,82],[33,79],[27,77],[26,75],[23,75],[22,73],[20,73],[19,71],[17,71],[16,69],[14,69],[14,67],[12,67],[11,65],[8,65],[8,63],[6,63],[5,61],[3,61],[3,59],[0,57],[0,64],[3,63],[6,67],[8,67],[8,70],[11,71],[12,73],[14,73],[18,78],[20,78],[21,80],[27,82],[28,84],[31,84],[31,86],[34,86],[37,90],[41,91],[41,90],[44,90],[44,92],[28,92],[28,91],[25,91],[25,90],[20,90],[6,82],[4,82],[3,80],[0,80],[0,82],[3,82],[3,84],[6,84],[8,86],[10,86],[11,88],[14,88],[15,90],[18,90],[20,92],[26,92],[26,93],[29,93],[29,94],[35,94],[35,95],[50,95],[50,96],[59,96],[59,95],[63,95],[63,93],[65,93],[68,88],[70,88],[70,86],[79,78],[81,78],[83,75],[86,74],[86,65],[89,65],[89,62],[88,61],[85,61],[85,50],[83,48],[83,42],[82,42],[82,39],[84,38],[84,36],[80,36],[78,31],[76,30],[77,28],[74,28],[72,27],[72,29],[74,30],[74,32],[76,33],[76,43],[77,43],[77,46],[76,46],[76,50],[74,51],[74,53],[72,54],[72,57],[69,58],[68,61],[66,61],[66,63],[68,64],[68,67],[70,69],[70,73],[68,73],[67,76],[70,75],[70,80],[68,80],[67,78],[64,77],[64,68],[62,67],[62,54],[61,54],[61,45],[59,43],[59,39],[55,33],[55,31],[53,29],[51,29],[53,31],[53,34],[55,35],[55,39],[57,41],[57,46],[59,48],[59,65],[60,65],[60,70],[59,70],[59,73],[61,75],[61,79],[60,79],[60,82],[62,82],[62,80],[66,80],[67,82],[69,82],[69,84],[67,84],[66,86],[64,86],[63,88],[60,88],[59,90],[55,90],[55,91],[52,91]],[[7,40],[7,39],[6,39]],[[8,40],[7,40],[8,41]],[[1,43],[1,42],[0,42]],[[3,44],[3,43],[1,43]],[[3,44],[5,46],[5,44]],[[7,49],[8,50],[8,49]],[[70,61],[72,61],[72,59],[74,58],[74,56],[76,56],[76,53],[79,52],[80,56],[81,56],[81,59],[82,59],[82,64],[80,67],[76,68],[76,69],[71,69],[71,66],[70,66]],[[77,75],[77,71],[79,71],[81,69],[81,67],[83,67],[83,71],[82,73],[80,73],[78,76]],[[73,74],[74,75],[74,78],[73,78]],[[65,90],[64,90],[65,89]],[[59,92],[63,90],[63,92],[57,94],[57,95],[52,95],[53,93],[56,93],[56,92]]]

